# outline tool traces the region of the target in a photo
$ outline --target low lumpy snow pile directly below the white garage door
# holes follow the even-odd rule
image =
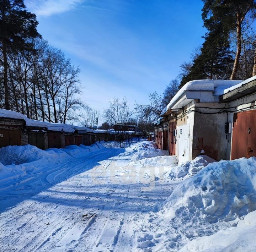
[[[180,178],[185,176],[192,176],[201,171],[209,163],[215,162],[216,160],[208,157],[207,155],[201,155],[196,157],[192,161],[188,161],[182,163],[181,165],[177,165],[175,167],[170,167],[167,171],[164,172],[164,178]]]

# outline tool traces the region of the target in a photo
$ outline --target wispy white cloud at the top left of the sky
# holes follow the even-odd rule
[[[63,13],[74,8],[84,0],[25,0],[25,4],[33,13],[40,16],[50,16],[56,13]]]

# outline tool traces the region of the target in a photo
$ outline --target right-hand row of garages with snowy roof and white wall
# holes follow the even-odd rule
[[[202,154],[215,160],[255,157],[255,108],[256,76],[188,82],[154,122],[155,142],[178,164]]]

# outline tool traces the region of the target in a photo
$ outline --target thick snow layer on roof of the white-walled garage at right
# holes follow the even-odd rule
[[[242,81],[231,81],[231,80],[189,81],[177,92],[177,94],[175,94],[175,96],[171,99],[170,103],[166,106],[166,109],[162,111],[162,114],[164,114],[168,109],[171,109],[172,106],[175,105],[175,103],[178,101],[178,99],[180,99],[180,97],[186,93],[186,91],[215,92],[217,89],[218,93],[220,93],[218,90],[220,89],[220,87],[222,87],[222,89],[223,87],[229,88],[241,82]],[[220,94],[214,94],[214,95],[220,95]]]

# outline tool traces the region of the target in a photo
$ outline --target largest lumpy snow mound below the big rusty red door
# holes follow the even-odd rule
[[[175,187],[163,211],[186,222],[195,216],[209,222],[234,220],[256,210],[255,189],[256,158],[222,160]]]

